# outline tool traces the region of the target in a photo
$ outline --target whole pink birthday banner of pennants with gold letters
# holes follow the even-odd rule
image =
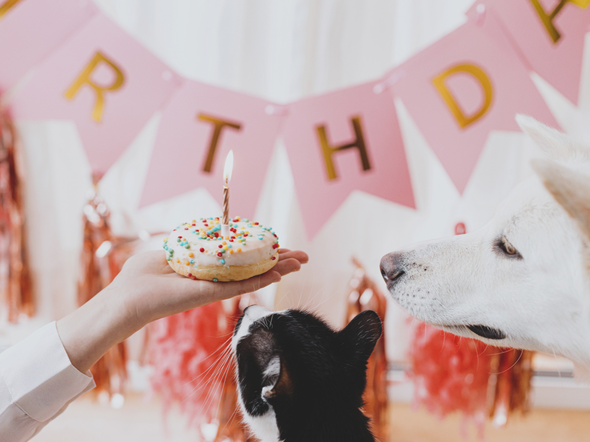
[[[282,135],[313,238],[355,190],[415,207],[394,97],[460,193],[490,131],[519,130],[514,114],[558,127],[530,72],[577,104],[589,6],[477,2],[466,24],[381,80],[278,106],[181,78],[90,0],[0,0],[0,88],[22,80],[10,103],[19,119],[76,122],[98,175],[162,111],[141,207],[198,188],[221,201],[232,149],[232,212],[253,215]]]

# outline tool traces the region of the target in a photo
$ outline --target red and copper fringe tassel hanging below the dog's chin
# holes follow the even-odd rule
[[[439,417],[461,411],[483,436],[487,416],[502,426],[510,413],[529,410],[534,353],[488,346],[420,323],[410,355],[414,405]]]

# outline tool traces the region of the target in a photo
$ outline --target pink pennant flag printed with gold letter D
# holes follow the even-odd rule
[[[467,22],[394,73],[403,78],[392,92],[461,194],[490,130],[519,130],[516,113],[559,127],[492,15]]]

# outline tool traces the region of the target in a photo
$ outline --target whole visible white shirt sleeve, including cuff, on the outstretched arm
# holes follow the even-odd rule
[[[55,322],[0,353],[0,441],[24,442],[96,387],[70,363]]]

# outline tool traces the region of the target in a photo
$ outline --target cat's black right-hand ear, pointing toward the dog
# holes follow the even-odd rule
[[[366,364],[382,331],[379,315],[372,310],[365,310],[353,317],[340,336],[346,348],[352,350],[359,362]]]

